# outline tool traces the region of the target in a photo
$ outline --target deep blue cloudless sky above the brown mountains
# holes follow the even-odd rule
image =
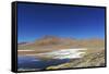
[[[105,9],[19,3],[17,41],[34,41],[45,35],[105,38]]]

